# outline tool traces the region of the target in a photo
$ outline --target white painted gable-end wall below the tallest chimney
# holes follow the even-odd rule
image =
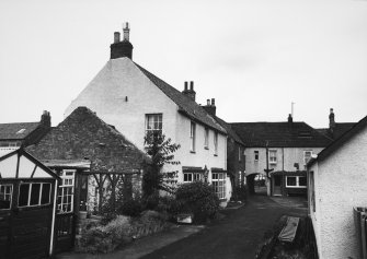
[[[127,102],[125,101],[127,96]],[[112,59],[66,109],[87,106],[144,150],[146,114],[163,114],[163,132],[176,139],[177,106],[128,58]]]

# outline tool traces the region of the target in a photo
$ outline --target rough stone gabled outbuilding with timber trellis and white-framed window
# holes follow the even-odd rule
[[[78,107],[27,150],[61,178],[56,251],[73,246],[80,211],[99,213],[108,198],[114,205],[119,183],[126,199],[133,196],[134,188],[140,190],[146,155],[87,107]]]

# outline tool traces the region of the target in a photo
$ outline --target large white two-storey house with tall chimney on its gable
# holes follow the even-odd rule
[[[111,59],[72,101],[65,115],[79,106],[95,111],[114,125],[140,150],[149,131],[161,131],[180,144],[174,156],[180,165],[174,183],[207,179],[222,201],[230,198],[231,185],[227,176],[227,132],[195,102],[194,82],[185,82],[177,91],[133,61],[128,24],[124,39],[118,32],[111,45]],[[167,169],[164,167],[163,169]]]

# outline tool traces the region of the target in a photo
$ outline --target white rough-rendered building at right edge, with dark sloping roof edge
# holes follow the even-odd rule
[[[359,258],[353,207],[367,205],[367,117],[308,164],[319,258]]]

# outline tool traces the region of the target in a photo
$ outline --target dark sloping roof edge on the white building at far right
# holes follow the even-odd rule
[[[316,162],[320,162],[329,157],[332,153],[334,153],[341,145],[343,145],[345,142],[349,141],[354,136],[356,136],[358,132],[364,130],[367,127],[367,116],[359,120],[357,123],[354,123],[354,126],[346,132],[344,132],[340,138],[337,138],[335,141],[333,141],[326,149],[322,150],[317,158],[312,158],[307,166],[312,166]]]

